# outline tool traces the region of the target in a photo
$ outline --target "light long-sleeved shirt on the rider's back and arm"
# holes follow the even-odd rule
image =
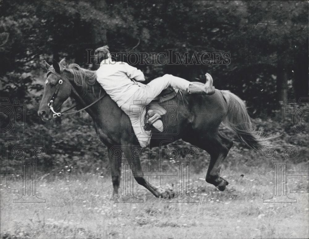
[[[145,76],[141,70],[125,62],[116,62],[111,59],[106,59],[101,62],[100,68],[96,71],[96,75],[97,81],[119,107],[139,88],[138,84],[130,79],[134,78],[138,81],[145,81]]]

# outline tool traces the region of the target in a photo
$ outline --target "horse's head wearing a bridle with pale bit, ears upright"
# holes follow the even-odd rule
[[[38,110],[38,115],[44,121],[50,120],[55,113],[52,110],[57,111],[72,93],[73,87],[69,81],[68,72],[63,67],[63,60],[61,60],[60,64],[54,60],[53,65],[49,65],[45,61],[47,79],[45,80],[44,93]]]

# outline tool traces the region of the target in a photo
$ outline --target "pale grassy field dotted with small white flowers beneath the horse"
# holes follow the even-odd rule
[[[206,183],[205,173],[191,173],[191,196],[199,199],[194,204],[145,194],[138,195],[143,203],[110,203],[108,175],[48,175],[37,181],[38,196],[46,203],[12,203],[18,195],[1,194],[1,238],[309,237],[308,194],[289,194],[297,199],[293,204],[263,203],[272,196],[269,164],[223,167],[221,175],[230,182],[224,192]],[[301,186],[301,177],[288,179],[288,189]],[[308,190],[308,178],[303,179]],[[151,182],[158,185],[159,178]],[[20,187],[18,180],[9,184]],[[134,187],[143,189],[137,183]]]

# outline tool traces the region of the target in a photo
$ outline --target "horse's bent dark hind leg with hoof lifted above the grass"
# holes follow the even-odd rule
[[[233,142],[223,137],[219,132],[205,134],[201,138],[188,140],[195,146],[206,150],[210,154],[210,163],[206,174],[206,182],[216,186],[220,191],[224,191],[228,182],[220,177],[220,169],[223,160],[226,158]]]

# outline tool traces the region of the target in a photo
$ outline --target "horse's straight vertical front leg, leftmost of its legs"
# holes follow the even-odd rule
[[[109,159],[109,165],[111,167],[111,174],[112,174],[112,183],[113,183],[113,194],[112,198],[116,199],[119,197],[119,160],[122,157],[122,154],[119,157],[115,157],[115,155],[112,155],[111,147],[108,147],[108,159]]]

